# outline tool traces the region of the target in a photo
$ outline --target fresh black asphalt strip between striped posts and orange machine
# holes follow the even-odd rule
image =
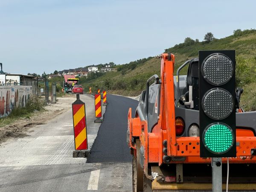
[[[107,113],[104,115],[104,121],[87,163],[131,162],[132,156],[126,143],[127,116],[129,108],[132,108],[134,116],[137,106],[137,100],[108,95]]]

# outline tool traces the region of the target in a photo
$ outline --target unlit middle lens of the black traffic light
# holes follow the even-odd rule
[[[224,119],[233,111],[233,97],[227,90],[213,88],[204,94],[202,108],[211,119]]]

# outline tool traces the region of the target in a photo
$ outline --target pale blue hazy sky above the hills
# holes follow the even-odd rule
[[[186,37],[256,28],[254,0],[0,0],[0,63],[7,73],[125,64]]]

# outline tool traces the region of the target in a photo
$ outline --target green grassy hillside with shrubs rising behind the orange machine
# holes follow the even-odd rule
[[[187,38],[186,38],[187,39]],[[236,50],[236,83],[237,87],[243,87],[244,93],[241,105],[246,110],[256,110],[256,29],[240,29],[225,38],[215,39],[210,42],[199,42],[189,38],[189,42],[177,44],[165,49],[165,52],[175,54],[175,73],[177,68],[185,61],[198,57],[198,50]],[[129,64],[117,65],[116,72],[101,74],[99,77],[81,78],[85,90],[92,87],[94,91],[98,88],[108,90],[126,96],[137,96],[145,89],[146,80],[153,74],[160,75],[160,59],[143,58]],[[186,74],[183,69],[181,74]]]

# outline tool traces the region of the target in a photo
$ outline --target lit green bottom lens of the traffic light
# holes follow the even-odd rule
[[[227,152],[234,144],[232,129],[224,123],[209,125],[203,134],[204,146],[212,153],[222,154]]]

